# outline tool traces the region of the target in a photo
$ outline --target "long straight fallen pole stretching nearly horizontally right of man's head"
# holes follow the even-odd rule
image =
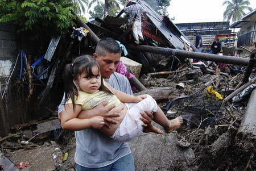
[[[241,65],[241,66],[247,66],[249,64],[249,60],[250,60],[250,59],[241,58],[241,57],[232,57],[232,56],[225,56],[225,55],[222,56],[222,55],[214,55],[214,54],[209,54],[209,53],[182,51],[179,49],[152,47],[149,45],[126,44],[125,47],[127,49],[130,49],[133,51],[151,52],[151,53],[158,53],[158,54],[163,54],[163,55],[175,55],[176,57],[181,57],[181,58],[222,62],[225,64],[234,64],[234,65]]]

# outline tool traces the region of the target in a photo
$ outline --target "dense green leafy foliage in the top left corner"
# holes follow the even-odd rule
[[[68,0],[0,0],[0,22],[19,26],[18,33],[30,31],[34,39],[64,34],[75,26]]]

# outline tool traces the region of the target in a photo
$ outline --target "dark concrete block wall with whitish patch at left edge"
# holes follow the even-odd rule
[[[14,124],[22,123],[24,101],[20,100],[16,86],[18,57],[16,28],[13,24],[0,23],[0,136],[6,136]],[[17,62],[19,64],[19,60]],[[13,72],[14,70],[14,72]],[[11,73],[13,72],[13,76]],[[9,81],[10,79],[10,81]],[[9,82],[8,82],[9,81]],[[23,118],[24,119],[24,118]]]

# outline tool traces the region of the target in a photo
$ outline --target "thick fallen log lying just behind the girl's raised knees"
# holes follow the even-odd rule
[[[139,91],[139,93],[135,93],[134,95],[137,96],[141,94],[149,94],[157,102],[174,99],[180,96],[179,90],[174,89],[173,87],[157,87],[154,89]]]

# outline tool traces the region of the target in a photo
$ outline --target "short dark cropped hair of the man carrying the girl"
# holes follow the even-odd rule
[[[119,53],[121,55],[122,51],[117,41],[110,37],[105,37],[98,41],[95,53],[98,56],[104,56],[106,53]]]

